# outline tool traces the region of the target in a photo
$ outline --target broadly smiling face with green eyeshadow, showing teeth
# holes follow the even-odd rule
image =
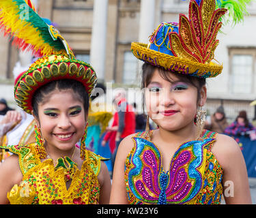
[[[55,89],[38,104],[38,117],[42,138],[47,146],[70,151],[85,131],[86,115],[83,102],[72,89]]]

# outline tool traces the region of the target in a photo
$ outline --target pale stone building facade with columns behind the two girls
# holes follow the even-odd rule
[[[187,14],[188,0],[34,0],[38,13],[57,24],[78,59],[89,61],[104,82],[129,87],[140,84],[139,61],[130,52],[130,43],[147,43],[160,22],[178,22]],[[256,98],[256,3],[248,7],[242,24],[225,25],[218,34],[215,59],[223,63],[222,76],[208,80],[208,102],[213,113],[223,104],[229,119],[246,110],[250,119]],[[19,59],[12,40],[0,36],[0,82],[12,78]],[[141,97],[139,97],[141,99]]]

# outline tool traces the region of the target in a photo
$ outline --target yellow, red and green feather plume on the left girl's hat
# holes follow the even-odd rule
[[[14,44],[21,50],[31,50],[33,55],[74,54],[66,40],[53,25],[46,22],[35,10],[31,0],[1,0],[0,29],[5,36],[13,37]]]

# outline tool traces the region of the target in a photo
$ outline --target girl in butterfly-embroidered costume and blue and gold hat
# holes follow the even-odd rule
[[[251,204],[238,144],[202,131],[205,78],[223,68],[212,59],[225,11],[215,0],[190,0],[188,18],[162,22],[149,44],[132,43],[145,61],[145,105],[159,128],[147,125],[119,145],[111,204],[220,204],[223,191],[227,204]]]

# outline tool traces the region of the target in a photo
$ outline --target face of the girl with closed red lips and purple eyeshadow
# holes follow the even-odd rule
[[[160,128],[167,131],[193,126],[197,106],[205,104],[205,86],[199,93],[200,98],[197,96],[197,87],[180,80],[171,72],[169,80],[165,80],[156,68],[145,89],[147,112]]]

